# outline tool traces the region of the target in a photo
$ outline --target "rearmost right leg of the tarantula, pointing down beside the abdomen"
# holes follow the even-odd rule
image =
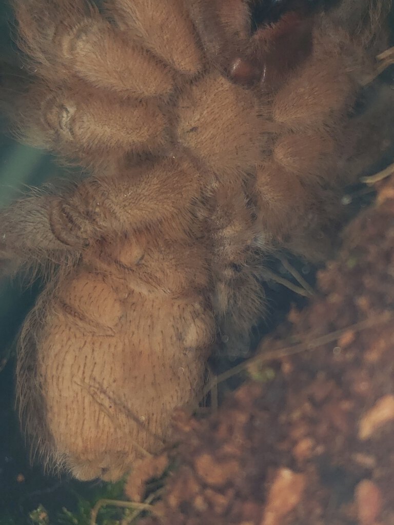
[[[255,210],[242,189],[222,185],[211,218],[215,247],[212,304],[219,345],[229,356],[250,351],[251,328],[265,307]]]

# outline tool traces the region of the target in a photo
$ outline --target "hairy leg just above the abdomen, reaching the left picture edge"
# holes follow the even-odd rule
[[[19,266],[48,258],[56,262],[101,238],[110,240],[163,219],[172,230],[187,232],[200,187],[190,163],[169,159],[115,179],[87,178],[67,194],[21,199],[0,213],[0,257]]]

